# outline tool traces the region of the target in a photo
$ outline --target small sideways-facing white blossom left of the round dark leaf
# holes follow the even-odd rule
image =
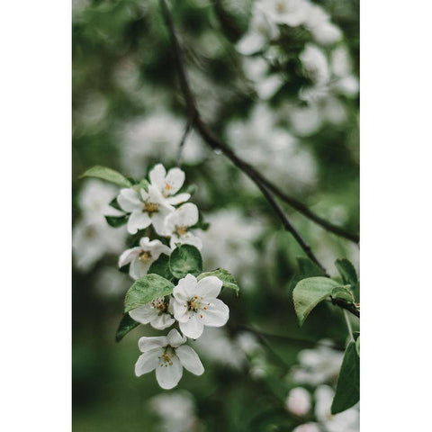
[[[139,240],[139,246],[131,247],[121,254],[119,267],[130,264],[130,277],[139,279],[147,274],[148,268],[161,254],[170,255],[171,249],[160,240],[150,241],[148,237],[143,237]]]

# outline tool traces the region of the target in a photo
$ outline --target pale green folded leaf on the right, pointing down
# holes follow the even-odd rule
[[[339,284],[329,279],[329,277],[308,277],[302,279],[295,285],[293,290],[294,309],[302,326],[304,320],[311,310],[324,299],[329,297],[333,289]]]

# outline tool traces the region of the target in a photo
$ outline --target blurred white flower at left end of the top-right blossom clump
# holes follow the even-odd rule
[[[264,49],[270,40],[278,34],[276,24],[268,18],[266,13],[255,4],[252,21],[247,33],[238,41],[238,52],[245,56],[255,54]]]

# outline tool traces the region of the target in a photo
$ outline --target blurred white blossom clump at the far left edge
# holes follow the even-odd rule
[[[73,229],[72,245],[76,258],[76,267],[88,271],[103,256],[119,254],[124,248],[126,230],[113,229],[106,222],[104,215],[121,214],[108,205],[115,197],[116,188],[99,180],[89,180],[78,197],[81,219]]]

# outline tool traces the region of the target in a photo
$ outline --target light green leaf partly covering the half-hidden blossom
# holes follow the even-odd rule
[[[174,284],[159,275],[145,275],[133,284],[124,298],[124,313],[147,304],[157,297],[173,293]]]

